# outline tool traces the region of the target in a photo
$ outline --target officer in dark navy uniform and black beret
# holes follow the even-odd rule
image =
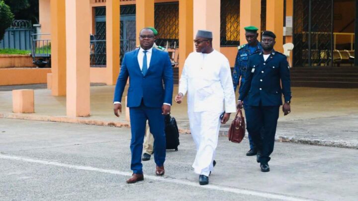
[[[246,80],[240,90],[237,107],[245,110],[247,130],[258,150],[257,161],[261,171],[269,171],[269,155],[273,151],[279,107],[284,104],[284,115],[291,112],[290,72],[286,56],[273,50],[276,36],[271,31],[262,35],[263,51],[250,56]],[[282,83],[282,88],[281,84]],[[261,133],[262,131],[262,134]],[[261,136],[260,136],[261,135]]]

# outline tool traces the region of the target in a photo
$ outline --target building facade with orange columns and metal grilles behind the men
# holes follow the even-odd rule
[[[260,32],[273,31],[277,51],[293,43],[289,58],[293,67],[351,65],[357,55],[356,4],[356,0],[39,0],[41,32],[51,33],[52,94],[74,96],[68,104],[77,112],[68,110],[68,115],[89,114],[76,106],[78,99],[89,99],[88,83],[115,84],[122,56],[139,44],[139,30],[147,26],[158,30],[156,43],[178,63],[177,79],[194,49],[198,29],[213,31],[214,48],[232,67],[237,46],[246,43],[243,33],[249,25]],[[76,90],[83,87],[87,92]]]

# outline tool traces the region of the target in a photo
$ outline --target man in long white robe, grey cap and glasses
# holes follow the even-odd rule
[[[212,32],[199,30],[194,43],[196,52],[185,60],[175,100],[181,103],[187,93],[190,131],[196,145],[192,167],[200,175],[199,184],[206,185],[216,163],[220,123],[225,124],[230,113],[236,112],[236,102],[229,61],[212,48]]]

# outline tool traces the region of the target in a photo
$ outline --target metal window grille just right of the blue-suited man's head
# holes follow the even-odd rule
[[[179,2],[155,3],[154,26],[158,30],[156,44],[163,47],[179,47]]]

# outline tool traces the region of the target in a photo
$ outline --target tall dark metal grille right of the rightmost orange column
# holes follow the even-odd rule
[[[333,0],[294,0],[293,66],[333,66]]]

